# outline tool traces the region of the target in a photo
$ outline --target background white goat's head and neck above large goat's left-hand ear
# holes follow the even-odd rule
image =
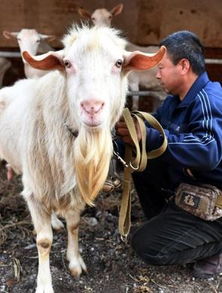
[[[24,51],[30,52],[33,56],[37,53],[46,53],[52,51],[46,40],[53,41],[55,36],[44,35],[38,33],[35,29],[22,29],[20,32],[3,31],[3,36],[6,39],[17,39],[21,55]],[[24,63],[24,72],[27,78],[38,78],[45,75],[47,72],[32,68],[22,57]]]

